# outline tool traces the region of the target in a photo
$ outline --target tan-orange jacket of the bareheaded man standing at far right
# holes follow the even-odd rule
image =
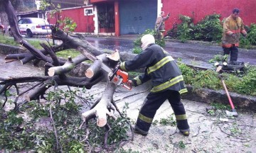
[[[238,17],[234,20],[231,15],[228,16],[223,23],[223,47],[232,47],[233,45],[238,47],[240,33],[242,33],[242,35],[247,34],[242,19]],[[234,38],[232,37],[233,34],[235,35]]]

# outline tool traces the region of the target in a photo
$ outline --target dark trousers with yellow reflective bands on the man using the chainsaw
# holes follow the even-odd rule
[[[147,133],[154,119],[154,115],[159,107],[166,101],[169,100],[171,108],[174,110],[176,116],[176,123],[179,130],[189,130],[188,120],[186,117],[186,111],[181,103],[181,96],[178,91],[162,91],[158,93],[150,92],[139,111],[137,123],[135,128],[140,131]]]

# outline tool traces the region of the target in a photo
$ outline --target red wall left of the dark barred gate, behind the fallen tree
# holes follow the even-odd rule
[[[91,7],[88,7],[91,8]],[[68,17],[73,19],[75,23],[77,23],[77,28],[75,29],[75,33],[94,33],[94,15],[93,16],[85,16],[84,15],[84,7],[83,8],[72,8],[66,9],[61,12],[62,18]],[[49,18],[51,24],[55,24],[54,18]],[[88,21],[88,22],[87,22]],[[88,26],[88,30],[87,30]]]

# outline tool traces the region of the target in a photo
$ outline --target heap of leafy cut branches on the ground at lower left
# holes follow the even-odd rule
[[[85,106],[79,105],[76,99],[84,94],[84,89],[50,91],[46,101],[30,101],[20,108],[20,111],[28,116],[29,119],[26,120],[21,118],[21,113],[6,113],[0,109],[0,119],[3,120],[0,122],[0,148],[6,152],[60,152],[60,148],[61,152],[87,152],[103,148],[105,128],[97,127],[95,120],[90,120],[88,139],[85,129],[79,128],[82,123],[80,111]],[[90,95],[85,97],[88,100],[93,98]],[[130,120],[127,118],[127,108],[128,104],[122,112],[124,118],[108,119],[110,130],[107,144],[111,145],[111,148],[117,147],[122,140],[127,140]],[[55,130],[50,114],[53,116]]]

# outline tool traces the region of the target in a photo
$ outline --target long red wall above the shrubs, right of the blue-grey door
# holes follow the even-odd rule
[[[240,18],[245,25],[256,23],[256,1],[255,0],[161,0],[164,5],[161,11],[171,16],[165,22],[166,30],[172,28],[173,24],[178,21],[180,14],[192,17],[194,13],[194,22],[201,21],[207,15],[218,13],[221,15],[220,20],[230,16],[233,8],[240,9]]]

